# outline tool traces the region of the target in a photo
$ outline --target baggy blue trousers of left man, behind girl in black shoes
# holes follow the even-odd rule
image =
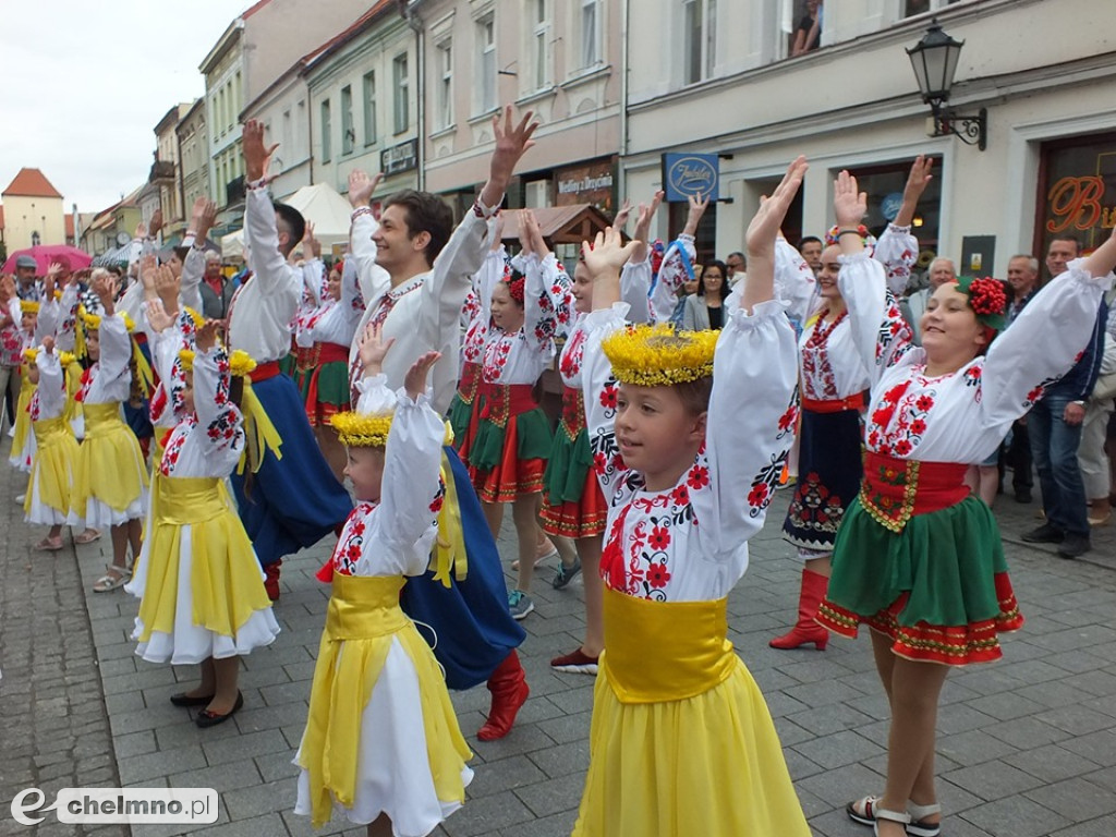
[[[334,531],[353,511],[353,501],[321,455],[295,382],[276,375],[253,383],[252,391],[282,437],[282,459],[268,451],[247,493],[249,469],[233,473],[232,488],[240,520],[266,567]]]

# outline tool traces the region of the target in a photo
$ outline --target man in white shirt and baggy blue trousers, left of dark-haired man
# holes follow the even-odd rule
[[[244,529],[267,574],[264,586],[279,597],[282,557],[317,543],[345,522],[353,503],[321,455],[306,420],[295,382],[279,362],[290,352],[291,320],[302,295],[302,273],[287,261],[302,240],[306,222],[298,210],[272,203],[267,164],[277,146],[263,145],[262,123],[243,128],[244,232],[252,242],[252,278],[229,305],[229,345],[256,360],[252,391],[282,437],[280,455],[263,453],[254,474],[233,474],[232,484]]]

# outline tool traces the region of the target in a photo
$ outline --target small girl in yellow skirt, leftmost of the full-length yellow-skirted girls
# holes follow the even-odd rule
[[[79,452],[77,439],[66,420],[65,369],[73,358],[55,352],[52,337],[45,337],[40,348],[25,354],[30,366],[29,377],[37,386],[30,404],[36,452],[23,500],[23,519],[49,526],[47,537],[35,548],[57,552],[62,548],[62,527],[80,526],[71,502],[74,465]]]

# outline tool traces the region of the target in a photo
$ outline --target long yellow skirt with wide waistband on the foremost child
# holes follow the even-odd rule
[[[606,589],[575,837],[810,836],[725,603]]]

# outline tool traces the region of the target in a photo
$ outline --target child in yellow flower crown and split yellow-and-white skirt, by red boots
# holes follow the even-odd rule
[[[320,828],[336,808],[368,824],[369,837],[430,834],[472,779],[445,679],[400,608],[406,577],[426,570],[437,537],[445,424],[424,391],[441,355],[422,355],[397,397],[382,374],[392,343],[368,326],[357,412],[334,416],[357,506],[328,565],[333,596],[295,759],[295,812]]]

